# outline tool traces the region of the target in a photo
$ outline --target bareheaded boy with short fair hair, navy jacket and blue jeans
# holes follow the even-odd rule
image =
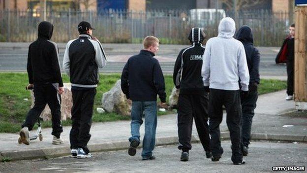
[[[128,154],[134,156],[140,144],[140,126],[145,117],[143,139],[143,160],[153,160],[155,130],[157,126],[157,104],[159,95],[161,106],[166,106],[164,76],[159,62],[153,58],[158,51],[159,40],[154,36],[144,39],[144,49],[130,57],[125,64],[121,77],[121,88],[127,99],[132,100],[131,138]]]

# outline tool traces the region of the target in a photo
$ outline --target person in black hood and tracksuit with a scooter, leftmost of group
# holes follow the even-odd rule
[[[38,38],[29,46],[27,88],[33,88],[35,101],[20,131],[20,141],[27,145],[30,144],[29,131],[32,130],[46,104],[49,105],[52,114],[52,143],[63,143],[60,138],[63,131],[60,94],[64,89],[59,65],[59,48],[55,42],[50,41],[52,33],[53,25],[46,21],[41,22],[38,25]]]

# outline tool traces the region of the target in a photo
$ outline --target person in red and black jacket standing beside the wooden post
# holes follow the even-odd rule
[[[294,36],[295,25],[292,24],[289,27],[289,35],[283,41],[275,60],[276,64],[287,64],[287,101],[293,100],[294,93]]]

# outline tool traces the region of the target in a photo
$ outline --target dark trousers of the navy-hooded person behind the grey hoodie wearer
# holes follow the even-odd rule
[[[252,118],[255,115],[254,109],[258,99],[258,91],[250,90],[247,98],[241,98],[242,105],[242,144],[248,146],[250,140],[250,131]]]

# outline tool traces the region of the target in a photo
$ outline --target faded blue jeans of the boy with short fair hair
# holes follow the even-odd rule
[[[142,157],[153,155],[155,144],[155,129],[157,125],[157,104],[153,102],[132,101],[131,109],[131,135],[129,141],[140,141],[140,127],[143,124],[142,117],[145,117],[145,136],[143,139]]]

